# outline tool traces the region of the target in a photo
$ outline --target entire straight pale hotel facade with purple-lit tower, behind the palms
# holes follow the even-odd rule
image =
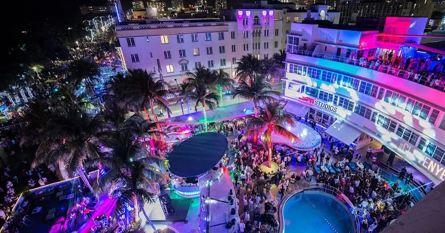
[[[226,10],[221,19],[157,20],[117,25],[127,69],[155,72],[171,86],[198,65],[231,76],[242,55],[260,59],[281,49],[282,21],[273,9]],[[176,80],[175,80],[176,79]]]

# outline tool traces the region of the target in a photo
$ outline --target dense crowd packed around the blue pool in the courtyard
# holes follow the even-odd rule
[[[389,186],[371,169],[344,169],[347,167],[344,164],[349,161],[359,162],[362,155],[350,145],[342,142],[332,143],[332,137],[322,131],[319,133],[323,143],[313,150],[298,151],[286,146],[274,145],[272,161],[278,165],[278,170],[273,174],[264,173],[260,167],[267,161],[268,151],[261,145],[243,140],[242,124],[236,121],[223,122],[215,128],[221,129],[220,132],[223,134],[226,131],[229,136],[231,134],[234,136],[230,142],[230,151],[235,155],[233,166],[235,193],[238,195],[240,205],[242,203],[243,206],[240,208],[241,232],[261,232],[261,225],[257,226],[258,228],[254,227],[253,218],[267,214],[273,216],[273,212],[276,211],[276,206],[274,206],[276,200],[273,199],[270,203],[270,189],[276,187],[282,198],[285,193],[293,191],[290,187],[301,179],[333,186],[345,193],[356,206],[361,232],[371,233],[384,229],[393,219],[413,205],[412,196],[403,192],[399,181]],[[371,149],[368,150],[366,159],[372,164],[376,156],[371,153]],[[332,161],[333,158],[336,159],[335,162]],[[295,164],[297,170],[298,167],[302,167],[303,172],[291,173],[291,168],[289,168],[291,163]],[[342,167],[342,172],[335,174],[315,172],[317,165],[319,167],[329,164],[333,167]],[[313,175],[306,172],[308,169],[314,171]],[[265,211],[261,213],[260,206],[263,202]]]

